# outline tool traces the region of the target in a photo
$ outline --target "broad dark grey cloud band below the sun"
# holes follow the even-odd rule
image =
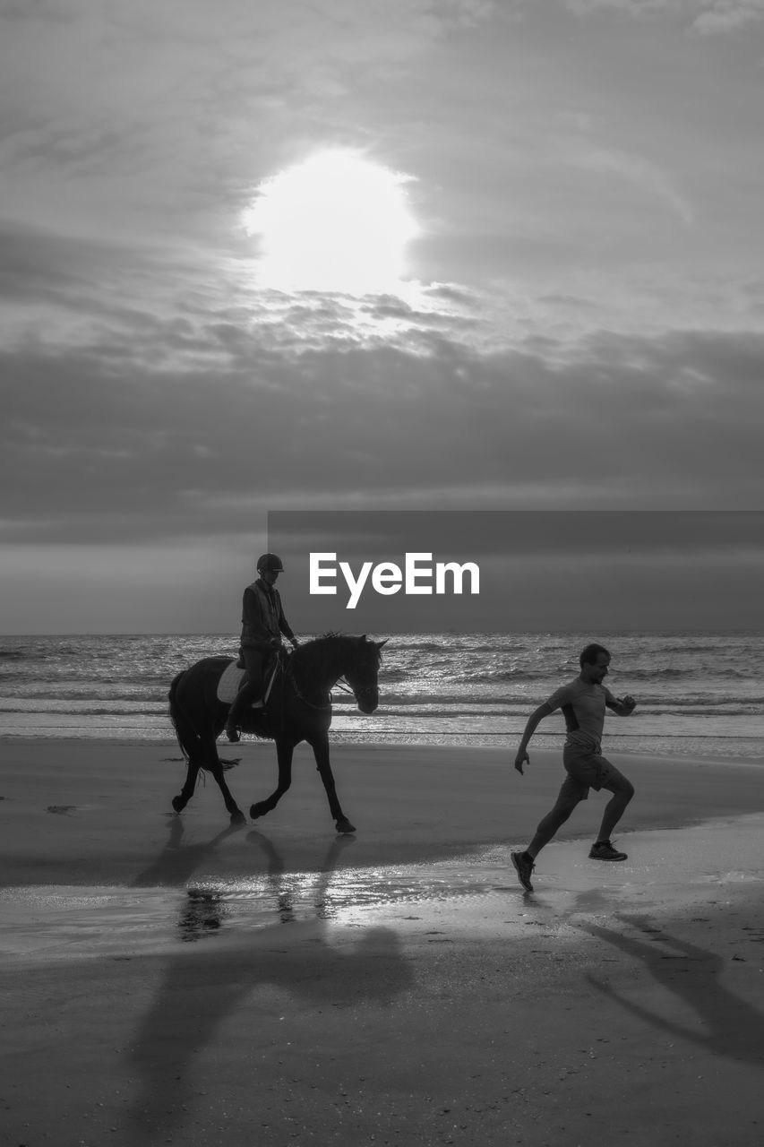
[[[758,506],[761,335],[566,354],[251,344],[225,369],[151,372],[7,352],[2,536],[213,538],[279,505]]]

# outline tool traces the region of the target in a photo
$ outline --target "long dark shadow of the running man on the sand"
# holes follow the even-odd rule
[[[716,1055],[764,1063],[764,1013],[722,983],[728,962],[724,957],[672,936],[648,916],[618,914],[616,919],[630,929],[630,934],[592,923],[579,927],[640,961],[666,992],[697,1016],[700,1030],[672,1020],[670,1007],[650,1011],[616,992],[605,981],[587,975],[587,981],[598,991],[631,1015],[677,1039],[688,1040]]]

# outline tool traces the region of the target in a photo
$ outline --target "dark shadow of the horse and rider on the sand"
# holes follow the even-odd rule
[[[182,858],[187,874],[229,832],[218,834],[206,845],[181,850],[188,853]],[[178,848],[181,833],[182,829],[176,829],[174,836],[171,835],[170,848]],[[303,913],[306,904],[311,905],[307,919],[295,918],[293,894],[284,879],[286,865],[273,843],[257,832],[249,833],[247,840],[267,858],[266,880],[275,919],[249,931],[232,930],[224,944],[184,944],[166,961],[125,1063],[127,1074],[140,1075],[140,1092],[130,1116],[140,1141],[153,1142],[189,1118],[200,1094],[189,1077],[196,1060],[216,1043],[226,1022],[237,1023],[244,1017],[250,1024],[252,1045],[260,1046],[259,1039],[270,1050],[274,1035],[279,1043],[299,1040],[305,1019],[312,1012],[318,1014],[323,1007],[352,1008],[358,1004],[383,1007],[412,982],[398,936],[390,928],[359,929],[350,941],[349,934],[344,934],[340,944],[330,943],[327,926],[330,885],[340,856],[353,837],[335,840],[318,869],[301,876]],[[150,875],[155,881],[162,876],[165,882],[174,883],[180,869],[176,858],[163,853],[137,877],[134,885],[142,887]],[[170,876],[172,881],[167,880]],[[189,890],[177,922],[179,939],[198,939],[225,931],[225,889]],[[283,993],[291,997],[291,1008],[283,1001]],[[266,1031],[263,1022],[268,1023],[274,1008],[290,1013],[290,1022],[279,1029],[271,1024]],[[235,1038],[231,1035],[232,1041]],[[315,1038],[320,1041],[318,1027]],[[243,1045],[247,1055],[237,1062],[237,1083],[252,1089],[255,1101],[263,1053],[255,1054],[252,1045]],[[231,1046],[217,1039],[217,1050],[223,1047],[224,1054],[229,1054]],[[215,1078],[203,1077],[202,1087],[215,1097]]]

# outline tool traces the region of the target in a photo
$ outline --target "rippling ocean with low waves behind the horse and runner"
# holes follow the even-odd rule
[[[396,634],[383,650],[380,708],[365,717],[335,690],[333,739],[514,754],[528,715],[577,676],[590,640],[613,654],[610,690],[638,702],[629,718],[608,713],[606,752],[764,763],[764,635],[746,633]],[[174,739],[166,702],[174,674],[236,650],[227,634],[0,638],[0,739]],[[562,740],[558,712],[531,750]]]

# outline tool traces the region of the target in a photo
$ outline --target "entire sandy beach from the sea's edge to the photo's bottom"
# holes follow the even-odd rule
[[[221,748],[242,809],[275,754]],[[509,850],[559,755],[310,751],[232,829],[174,741],[0,746],[10,1147],[692,1144],[764,1139],[764,767],[621,755],[523,894]],[[615,757],[614,757],[615,759]]]

